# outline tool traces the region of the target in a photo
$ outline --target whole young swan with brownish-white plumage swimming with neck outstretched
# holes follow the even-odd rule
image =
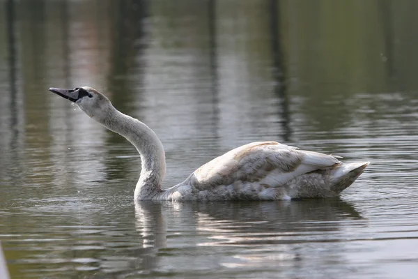
[[[166,163],[162,143],[141,121],[116,110],[108,98],[84,86],[50,88],[88,116],[125,137],[141,155],[134,198],[153,200],[273,200],[339,195],[369,162],[341,163],[341,157],[303,151],[277,142],[252,142],[196,169],[185,181],[161,189]]]

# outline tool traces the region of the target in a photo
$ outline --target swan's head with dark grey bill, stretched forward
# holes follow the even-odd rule
[[[89,86],[75,87],[74,89],[51,87],[49,91],[74,102],[90,117],[100,116],[107,107],[111,107],[106,96]]]

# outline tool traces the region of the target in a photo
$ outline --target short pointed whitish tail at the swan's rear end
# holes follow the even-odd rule
[[[350,163],[336,167],[331,172],[331,190],[341,193],[364,172],[370,162]]]

